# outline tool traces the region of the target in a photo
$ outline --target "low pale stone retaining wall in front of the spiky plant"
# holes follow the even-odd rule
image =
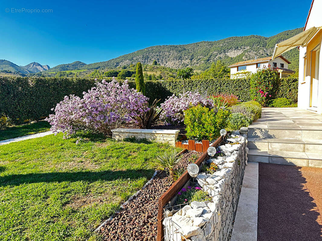
[[[153,140],[160,143],[168,143],[175,146],[180,130],[165,129],[113,129],[113,139],[123,140],[124,138],[134,137],[137,139]]]

